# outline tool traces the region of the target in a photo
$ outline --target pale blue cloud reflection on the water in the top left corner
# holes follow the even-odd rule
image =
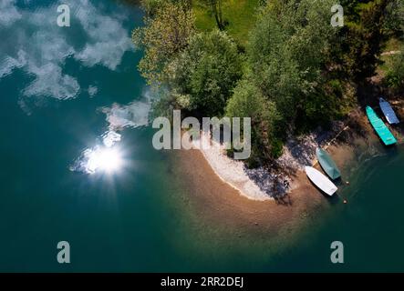
[[[23,95],[64,100],[80,92],[78,78],[63,71],[67,57],[89,67],[103,65],[116,70],[124,53],[133,49],[129,31],[122,26],[129,13],[117,7],[119,13],[107,14],[96,3],[64,1],[71,10],[71,27],[59,27],[59,3],[30,10],[18,7],[16,0],[2,0],[0,35],[5,38],[0,42],[0,80],[22,69],[35,77]],[[78,45],[78,31],[86,35],[84,44]]]

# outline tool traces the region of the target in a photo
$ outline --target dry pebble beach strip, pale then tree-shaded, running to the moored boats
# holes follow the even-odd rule
[[[363,112],[357,109],[349,118],[346,123],[334,123],[331,130],[318,128],[310,135],[290,138],[285,143],[283,155],[275,161],[281,171],[271,172],[264,167],[248,169],[242,161],[227,156],[224,147],[214,141],[210,148],[199,150],[214,174],[240,195],[257,201],[278,199],[298,189],[304,182],[302,179],[306,181],[305,166],[315,166],[322,171],[316,160],[317,147],[325,149],[342,167],[352,160],[355,147],[364,146],[369,140],[378,143],[378,137]],[[402,143],[402,125],[390,129],[398,143]],[[208,139],[206,135],[203,137]],[[285,187],[284,181],[290,186]]]

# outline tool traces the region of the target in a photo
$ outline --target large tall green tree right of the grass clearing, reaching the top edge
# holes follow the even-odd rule
[[[338,30],[329,25],[332,5],[332,0],[274,0],[251,33],[248,55],[254,83],[275,102],[286,129],[294,128],[297,116],[324,115],[312,110],[321,106],[306,104],[321,102],[313,96],[324,90],[327,63],[333,57],[331,44]]]

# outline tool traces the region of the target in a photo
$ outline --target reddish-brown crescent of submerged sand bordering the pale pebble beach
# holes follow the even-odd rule
[[[186,176],[184,184],[194,202],[193,210],[212,224],[240,230],[260,226],[260,232],[273,233],[279,226],[299,220],[302,214],[310,211],[309,208],[324,203],[308,181],[292,191],[285,204],[274,199],[249,199],[217,176],[199,150],[181,151],[179,156],[179,168],[181,175]]]

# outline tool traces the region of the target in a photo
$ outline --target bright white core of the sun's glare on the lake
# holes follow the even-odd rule
[[[89,173],[103,171],[110,174],[118,171],[121,166],[122,157],[117,148],[97,148],[88,154],[86,167]]]

